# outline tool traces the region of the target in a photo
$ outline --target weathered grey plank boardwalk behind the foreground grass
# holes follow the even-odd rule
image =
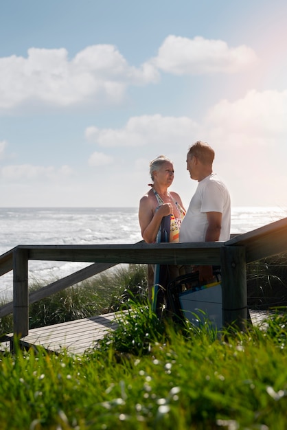
[[[29,335],[20,339],[21,346],[37,348],[41,346],[49,352],[63,352],[82,354],[93,348],[108,330],[115,330],[117,317],[121,313],[108,313],[96,317],[77,319],[53,326],[32,328]],[[12,341],[13,334],[7,335]],[[4,345],[3,345],[4,346]],[[7,348],[6,342],[6,348]],[[5,348],[5,347],[4,347]],[[2,348],[3,349],[3,348]]]

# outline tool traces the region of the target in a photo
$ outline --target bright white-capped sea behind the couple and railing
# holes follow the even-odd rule
[[[0,255],[16,245],[102,245],[141,240],[137,207],[0,208]],[[233,207],[231,233],[285,218],[280,207]],[[87,266],[82,262],[29,262],[29,280],[53,282]],[[12,297],[12,272],[0,278],[0,297]]]

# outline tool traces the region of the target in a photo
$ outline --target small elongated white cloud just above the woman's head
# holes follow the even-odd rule
[[[105,148],[149,144],[188,144],[197,131],[196,123],[188,117],[142,115],[131,117],[123,128],[88,127],[85,135],[90,142]]]

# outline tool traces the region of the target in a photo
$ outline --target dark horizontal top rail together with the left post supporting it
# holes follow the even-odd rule
[[[135,245],[19,245],[13,252],[14,333],[29,332],[28,260],[106,263],[220,264],[220,242]]]

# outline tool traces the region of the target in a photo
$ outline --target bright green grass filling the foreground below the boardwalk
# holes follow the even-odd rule
[[[0,428],[285,430],[286,324],[220,337],[132,306],[80,357],[3,355]]]

